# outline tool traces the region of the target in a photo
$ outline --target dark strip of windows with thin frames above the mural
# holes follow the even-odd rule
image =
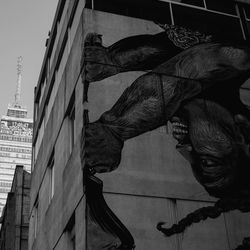
[[[232,34],[235,38],[243,38],[240,17],[233,1],[107,0],[103,4],[102,0],[87,0],[85,7],[156,23],[172,23],[217,38],[232,38]]]

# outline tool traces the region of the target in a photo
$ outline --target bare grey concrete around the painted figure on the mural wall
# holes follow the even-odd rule
[[[83,17],[84,35],[102,34],[105,45],[128,36],[160,31],[149,21],[98,11],[85,10]],[[141,74],[123,73],[91,84],[90,122],[109,110]],[[161,127],[125,142],[119,168],[98,176],[104,182],[107,203],[134,236],[136,249],[233,249],[240,244],[239,238],[247,234],[250,214],[233,212],[209,219],[188,228],[184,236],[165,238],[156,230],[159,221],[172,225],[195,209],[213,204],[213,199],[194,179],[189,163],[175,149],[171,129],[168,124],[168,132]],[[245,218],[244,222],[241,218]],[[241,221],[242,231],[231,227],[231,221]]]

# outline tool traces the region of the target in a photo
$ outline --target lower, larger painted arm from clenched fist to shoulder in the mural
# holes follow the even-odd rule
[[[125,140],[163,125],[183,102],[211,86],[240,86],[249,73],[247,48],[209,43],[184,50],[139,77],[111,110],[89,124],[87,164],[98,172],[111,171],[119,165]]]

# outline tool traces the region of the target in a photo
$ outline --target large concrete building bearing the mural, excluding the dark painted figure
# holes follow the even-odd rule
[[[110,241],[117,243],[115,237],[93,222],[86,205],[80,160],[81,133],[87,122],[83,117],[90,122],[98,119],[142,72],[90,84],[87,93],[81,72],[86,35],[101,34],[109,46],[129,36],[161,32],[156,21],[229,40],[249,39],[249,13],[247,1],[59,1],[35,89],[30,250],[118,249],[111,248]],[[249,100],[248,87],[242,91]],[[133,235],[138,250],[236,248],[246,236],[249,214],[230,212],[169,238],[155,229],[159,221],[175,223],[215,202],[176,151],[170,130],[170,125],[167,131],[160,127],[126,141],[120,167],[98,175],[107,204]],[[103,245],[97,246],[100,238]]]

